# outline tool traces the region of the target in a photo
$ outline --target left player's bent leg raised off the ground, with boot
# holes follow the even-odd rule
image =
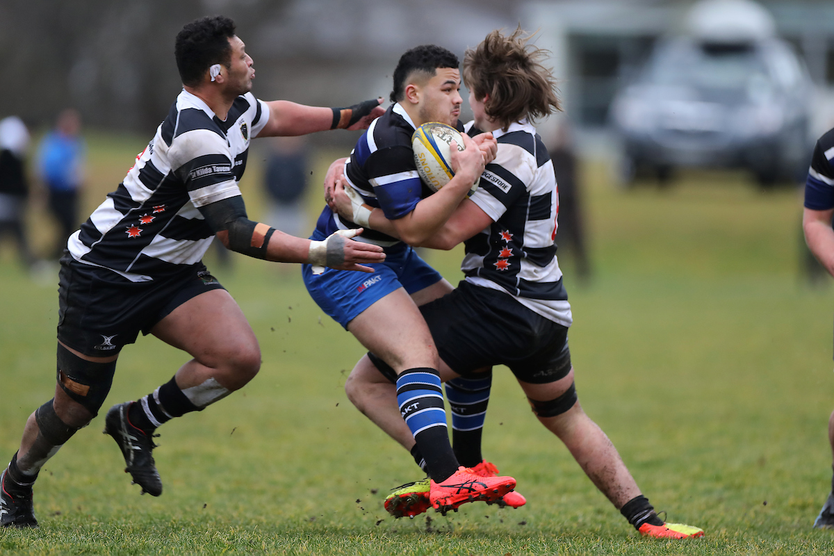
[[[190,290],[193,292],[193,290]],[[199,290],[197,290],[199,291]],[[153,433],[163,423],[202,411],[254,378],[260,348],[252,328],[223,288],[183,294],[182,303],[150,328],[150,333],[192,356],[167,383],[135,402],[108,411],[105,433],[122,449],[126,470],[143,493],[162,493],[153,460]]]

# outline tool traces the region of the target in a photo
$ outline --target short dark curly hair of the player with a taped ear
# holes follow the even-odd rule
[[[215,63],[232,65],[229,38],[234,37],[234,29],[234,21],[224,16],[195,19],[183,27],[173,48],[183,85],[198,86]]]

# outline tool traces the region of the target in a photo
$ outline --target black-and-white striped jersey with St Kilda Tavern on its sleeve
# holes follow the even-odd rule
[[[214,239],[199,208],[240,195],[249,141],[268,121],[252,93],[223,122],[183,90],[123,183],[69,238],[73,258],[133,282],[198,263]]]

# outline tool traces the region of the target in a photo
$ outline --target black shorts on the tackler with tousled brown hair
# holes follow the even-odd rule
[[[504,364],[525,383],[545,384],[570,372],[567,327],[506,293],[463,281],[420,311],[440,358],[461,376]]]

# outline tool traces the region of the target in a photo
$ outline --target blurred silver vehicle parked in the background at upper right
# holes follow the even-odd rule
[[[762,187],[806,172],[811,79],[770,33],[690,33],[656,44],[610,117],[620,178],[677,167],[747,168]]]

